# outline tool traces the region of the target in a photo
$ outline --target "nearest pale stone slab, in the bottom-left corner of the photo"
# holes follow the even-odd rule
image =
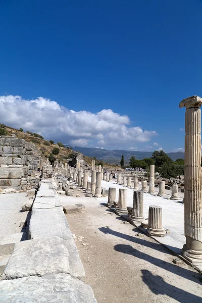
[[[67,274],[4,280],[0,297],[1,303],[96,303],[91,287]]]

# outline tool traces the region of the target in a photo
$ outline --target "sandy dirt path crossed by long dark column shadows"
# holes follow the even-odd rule
[[[202,301],[199,273],[173,264],[166,248],[94,198],[84,204],[85,214],[67,215],[67,220],[98,303]]]

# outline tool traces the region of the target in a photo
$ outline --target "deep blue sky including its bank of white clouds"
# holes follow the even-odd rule
[[[201,15],[200,0],[0,1],[0,122],[70,145],[183,148]]]

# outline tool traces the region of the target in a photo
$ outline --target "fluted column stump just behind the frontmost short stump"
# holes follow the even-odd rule
[[[131,215],[131,220],[133,222],[143,221],[143,196],[144,193],[141,190],[136,190],[133,192],[133,210]]]

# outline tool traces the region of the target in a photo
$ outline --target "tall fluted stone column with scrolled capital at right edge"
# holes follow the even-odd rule
[[[201,185],[201,113],[202,99],[191,96],[183,99],[185,107],[184,150],[184,258],[192,263],[202,262],[202,185]]]

